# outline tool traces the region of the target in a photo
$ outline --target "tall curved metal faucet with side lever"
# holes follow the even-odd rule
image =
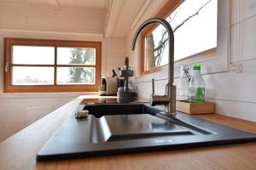
[[[155,95],[154,94],[154,79],[152,79],[152,94],[150,95],[150,105],[165,105],[166,114],[170,116],[175,115],[176,111],[176,87],[173,86],[173,72],[174,72],[174,35],[172,27],[170,24],[160,18],[152,18],[143,22],[141,26],[138,27],[131,45],[131,50],[135,49],[137,38],[139,34],[143,31],[145,27],[151,24],[161,24],[166,27],[166,31],[169,35],[169,62],[168,62],[168,83],[166,84],[166,94],[165,95]]]

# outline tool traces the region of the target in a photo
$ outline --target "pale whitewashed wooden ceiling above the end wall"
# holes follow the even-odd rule
[[[145,5],[154,0],[0,0],[0,5],[24,5],[55,11],[76,9],[104,14],[104,37],[126,37]],[[95,19],[96,20],[96,19]],[[100,21],[102,22],[102,20]],[[97,29],[97,28],[95,28]]]

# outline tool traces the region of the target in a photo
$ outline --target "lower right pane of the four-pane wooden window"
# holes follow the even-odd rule
[[[95,84],[95,68],[58,67],[57,84]]]

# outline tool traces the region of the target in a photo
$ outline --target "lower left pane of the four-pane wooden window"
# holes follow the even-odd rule
[[[46,85],[54,84],[53,67],[14,66],[13,85]]]

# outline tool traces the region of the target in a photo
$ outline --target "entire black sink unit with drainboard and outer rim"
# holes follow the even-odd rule
[[[79,105],[38,152],[37,161],[256,141],[256,135],[148,104]]]

